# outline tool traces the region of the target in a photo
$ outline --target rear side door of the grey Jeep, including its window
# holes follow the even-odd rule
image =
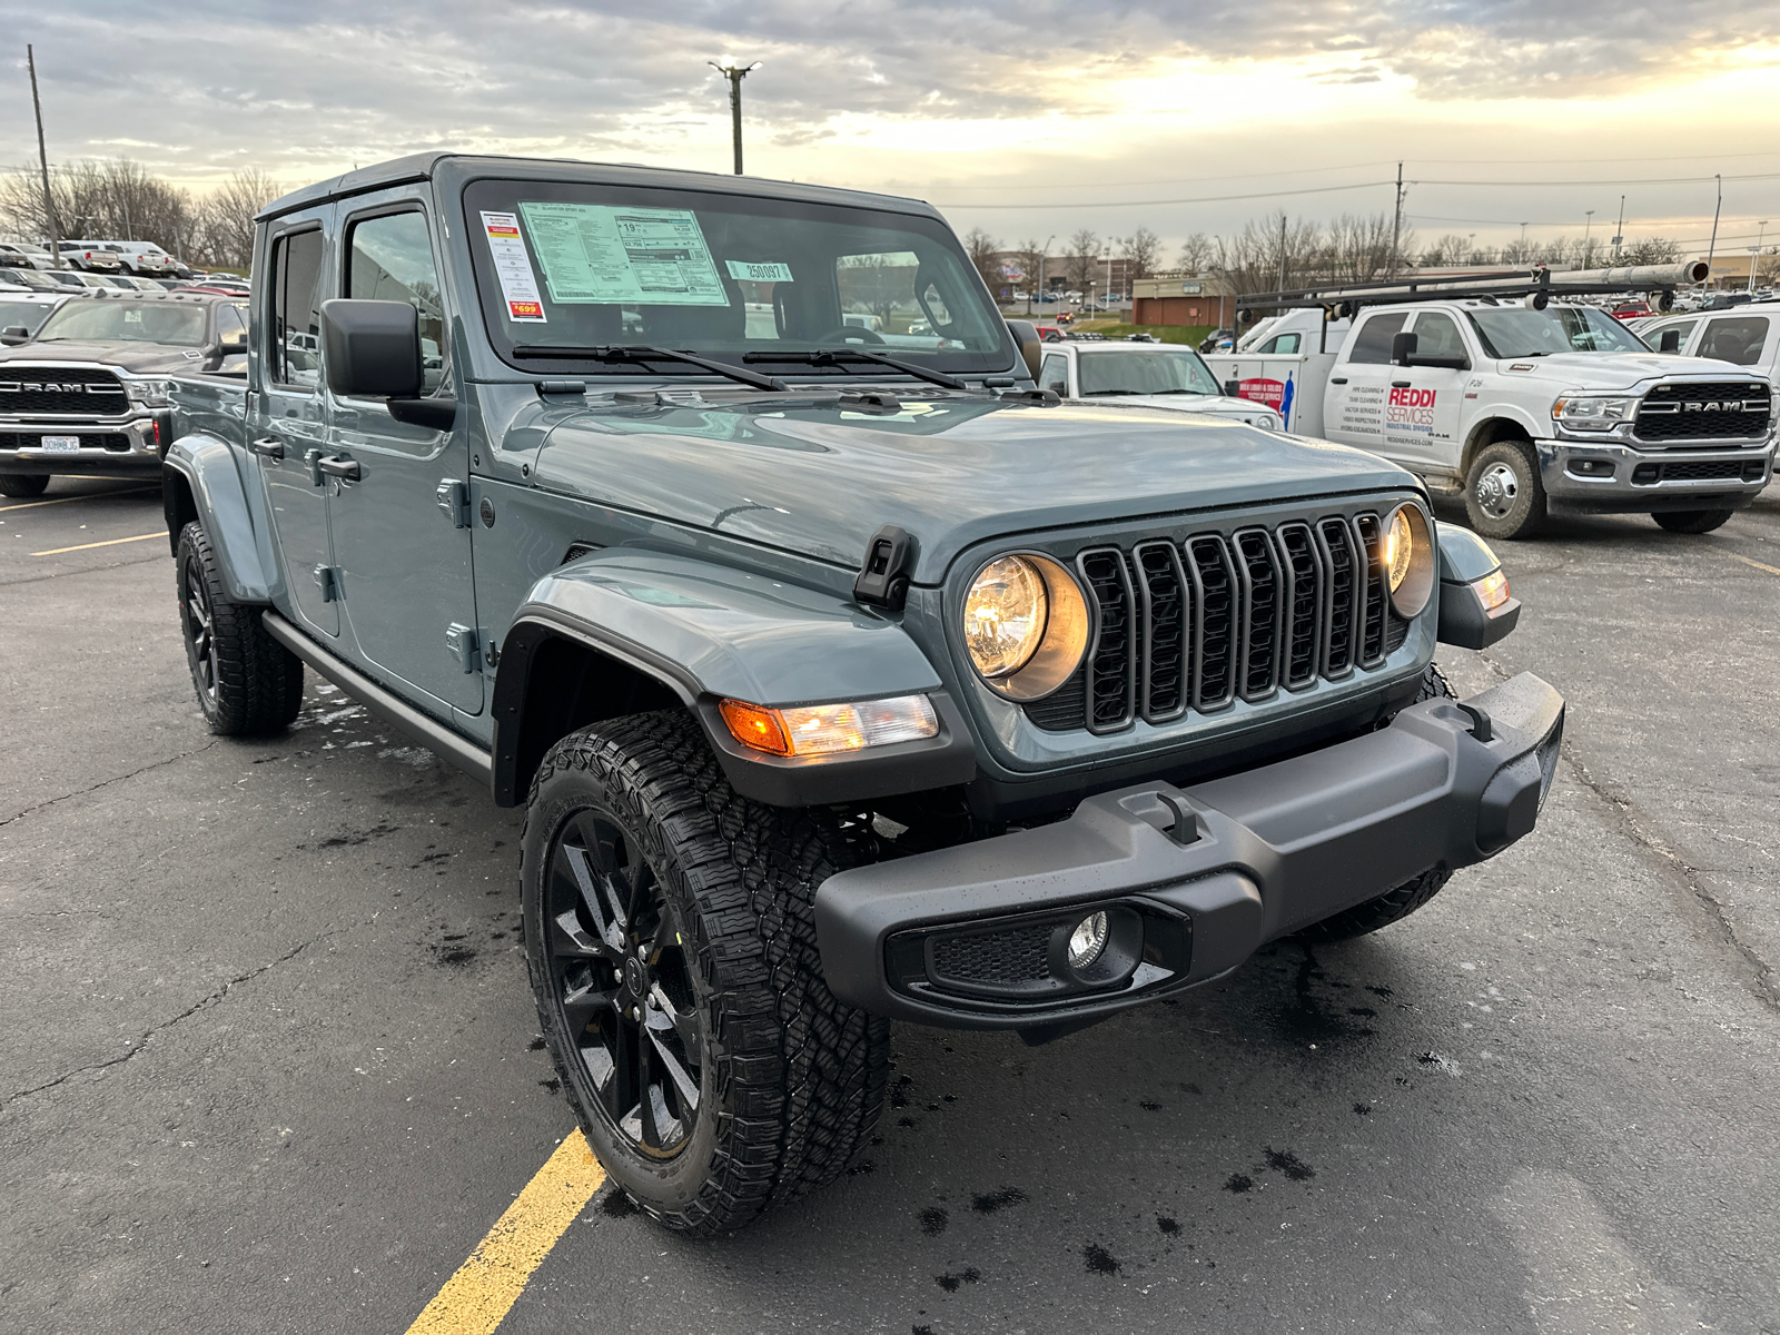
[[[292,614],[308,630],[340,634],[338,580],[328,539],[328,479],[315,461],[328,445],[320,384],[320,304],[328,297],[322,224],[331,206],[279,219],[271,240],[269,292],[260,299],[260,393],[247,441],[260,465],[272,534],[283,555]]]

